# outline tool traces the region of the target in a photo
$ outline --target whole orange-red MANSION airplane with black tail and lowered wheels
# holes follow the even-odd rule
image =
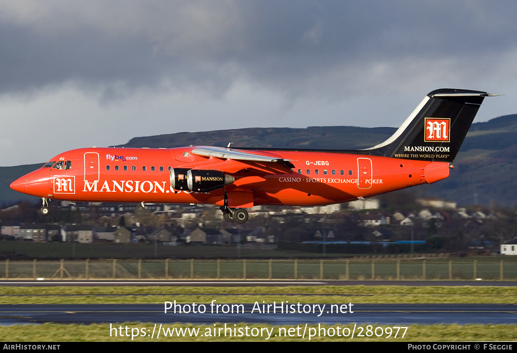
[[[11,188],[83,202],[199,203],[228,222],[256,205],[328,205],[449,176],[486,92],[438,89],[385,142],[362,150],[83,148],[51,158]]]

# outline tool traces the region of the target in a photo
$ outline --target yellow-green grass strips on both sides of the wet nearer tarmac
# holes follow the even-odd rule
[[[405,286],[316,286],[316,287],[2,287],[0,288],[0,303],[163,303],[176,300],[177,302],[209,302],[210,298],[224,295],[224,301],[229,303],[253,303],[254,301],[282,301],[288,298],[291,302],[303,303],[515,303],[517,287],[405,287]],[[217,327],[224,323],[216,324]],[[138,327],[153,330],[154,323],[125,323],[117,327]],[[168,328],[191,328],[201,332],[214,325],[166,325]],[[247,325],[236,324],[235,327],[267,328],[281,332],[295,326],[272,326],[265,324]],[[367,325],[364,326],[366,330]],[[343,335],[338,336],[337,330]],[[353,325],[322,325],[319,329],[332,336],[314,336],[311,341],[381,341],[381,342],[435,342],[435,341],[514,341],[517,325],[410,325],[402,338],[388,334],[382,336],[355,337],[344,336],[343,329]],[[376,327],[376,326],[375,326]],[[316,326],[309,328],[318,329]],[[383,326],[384,330],[389,326]],[[285,331],[287,332],[287,331]],[[295,331],[293,331],[295,332]],[[315,331],[313,331],[315,332]],[[323,332],[323,331],[322,331]],[[365,331],[366,332],[366,331]],[[381,329],[378,329],[378,333]],[[64,341],[131,341],[131,336],[114,336],[110,325],[14,325],[2,327],[1,341],[31,341],[31,342],[64,342]],[[371,333],[371,331],[370,331]],[[264,337],[151,337],[135,336],[133,341],[265,341]],[[308,337],[298,336],[270,337],[268,341],[308,341]]]

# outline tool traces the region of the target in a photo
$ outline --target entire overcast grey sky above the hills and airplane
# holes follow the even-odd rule
[[[135,136],[517,113],[514,1],[0,0],[0,165]]]

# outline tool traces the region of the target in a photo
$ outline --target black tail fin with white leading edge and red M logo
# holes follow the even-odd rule
[[[437,89],[428,94],[385,142],[369,148],[374,156],[452,162],[484,97],[466,89]]]

